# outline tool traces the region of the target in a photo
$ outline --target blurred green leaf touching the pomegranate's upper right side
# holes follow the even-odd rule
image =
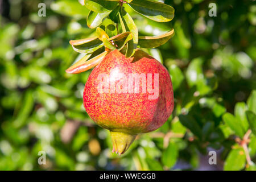
[[[171,75],[171,80],[172,80],[172,88],[176,90],[179,88],[181,82],[184,80],[184,76],[182,71],[180,70],[179,67],[177,67],[175,64],[172,64],[169,68],[169,73]]]

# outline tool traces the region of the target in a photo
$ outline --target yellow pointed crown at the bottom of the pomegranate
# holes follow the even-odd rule
[[[122,132],[110,131],[112,143],[113,143],[113,151],[116,154],[123,154],[130,147],[131,143],[135,140],[137,135],[131,135]]]

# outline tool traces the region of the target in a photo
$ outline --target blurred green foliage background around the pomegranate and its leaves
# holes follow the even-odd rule
[[[1,170],[255,170],[255,133],[246,147],[240,143],[250,128],[245,111],[256,113],[255,1],[162,2],[175,9],[171,22],[131,15],[140,35],[175,30],[147,50],[170,72],[175,110],[118,156],[109,131],[82,105],[90,71],[65,73],[80,56],[69,40],[93,34],[88,9],[75,0],[0,0]],[[242,123],[242,134],[229,121]],[[216,164],[209,151],[217,152]]]

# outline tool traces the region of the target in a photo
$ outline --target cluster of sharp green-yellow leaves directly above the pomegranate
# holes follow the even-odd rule
[[[96,28],[90,38],[71,40],[76,52],[83,57],[69,67],[71,74],[85,72],[99,64],[114,49],[126,57],[134,55],[137,48],[155,48],[174,36],[174,29],[158,36],[139,36],[138,28],[127,11],[134,10],[155,22],[169,22],[174,18],[174,8],[152,0],[79,0],[89,9],[87,25]]]

